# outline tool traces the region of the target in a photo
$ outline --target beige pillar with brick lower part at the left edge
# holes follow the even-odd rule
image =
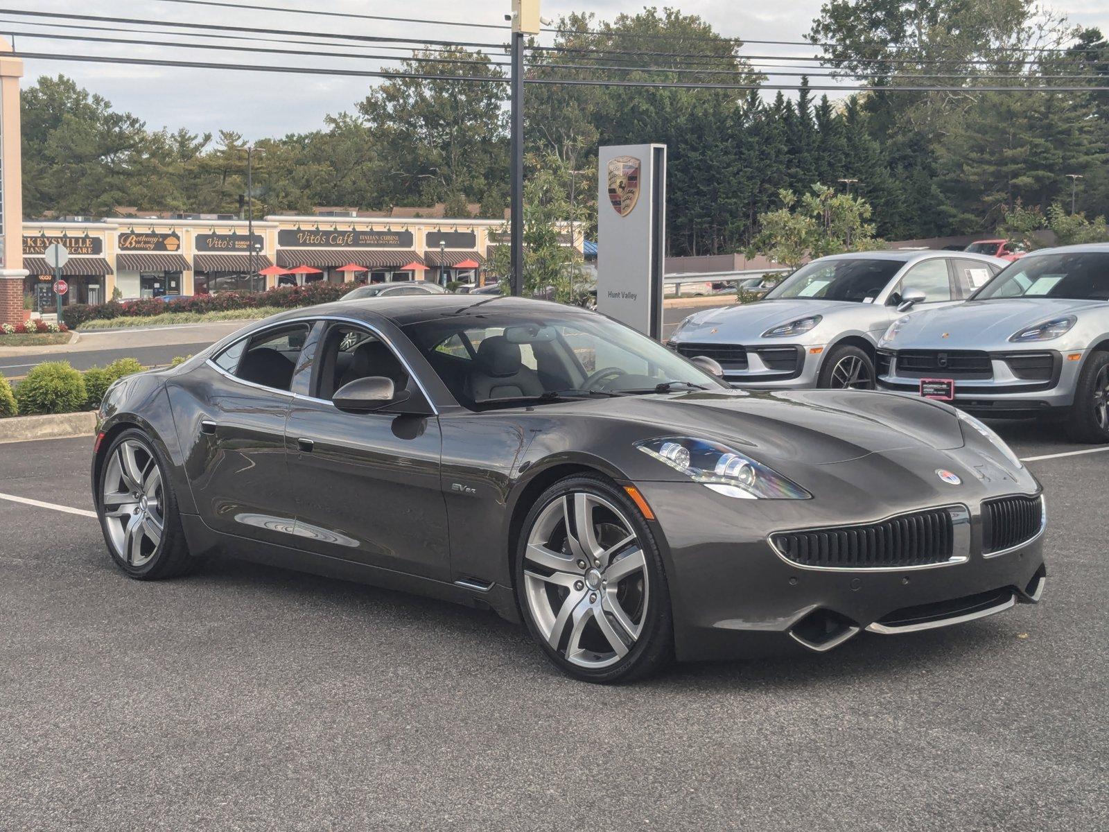
[[[23,61],[0,38],[0,324],[23,321],[23,180],[19,79]]]

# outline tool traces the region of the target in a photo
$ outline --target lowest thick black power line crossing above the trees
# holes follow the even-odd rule
[[[172,61],[157,58],[123,58],[115,55],[77,55],[49,52],[10,52],[14,58],[42,59],[53,61],[78,61],[85,63],[120,63],[146,67],[181,67],[191,69],[215,69],[236,72],[275,72],[282,74],[345,75],[355,78],[388,78],[433,81],[471,81],[479,83],[508,83],[500,75],[425,74],[417,72],[394,72],[388,70],[348,70],[326,67],[273,67],[266,64],[214,63],[210,61]],[[871,92],[873,87],[821,87],[803,88],[797,84],[704,84],[669,81],[614,81],[611,79],[543,79],[528,78],[529,84],[557,84],[569,87],[629,87],[647,89],[686,90],[801,90],[833,92]],[[1109,87],[883,87],[883,92],[1109,92]]]

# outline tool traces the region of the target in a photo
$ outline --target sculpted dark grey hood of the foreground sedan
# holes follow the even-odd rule
[[[903,448],[963,447],[954,410],[889,393],[706,390],[582,406],[598,416],[648,425],[659,435],[714,439],[767,465],[830,465]]]

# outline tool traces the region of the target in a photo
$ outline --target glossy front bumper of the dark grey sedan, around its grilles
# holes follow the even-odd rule
[[[863,460],[828,468],[853,467]],[[948,467],[953,467],[948,464]],[[878,475],[873,480],[881,480]],[[824,652],[863,630],[884,635],[942,627],[1039,600],[1046,581],[1044,531],[998,555],[983,555],[981,503],[1017,490],[967,481],[903,499],[873,481],[864,507],[849,488],[828,500],[736,500],[695,484],[640,483],[665,539],[664,558],[682,660]],[[892,486],[891,486],[892,487]],[[958,493],[962,490],[962,493]],[[817,493],[817,491],[814,491]],[[823,493],[823,491],[821,491]],[[775,552],[775,531],[871,522],[903,511],[952,505],[969,515],[960,562],[877,570],[802,567]],[[899,505],[897,505],[899,504]]]

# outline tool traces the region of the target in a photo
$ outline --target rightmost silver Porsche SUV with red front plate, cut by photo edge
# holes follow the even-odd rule
[[[1109,442],[1109,244],[1032,252],[965,303],[895,321],[878,386]]]

